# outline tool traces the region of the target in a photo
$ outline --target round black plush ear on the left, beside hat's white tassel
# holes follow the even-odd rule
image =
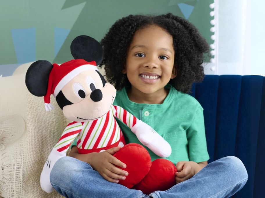
[[[45,96],[53,65],[47,60],[37,60],[26,73],[26,86],[34,96]]]

